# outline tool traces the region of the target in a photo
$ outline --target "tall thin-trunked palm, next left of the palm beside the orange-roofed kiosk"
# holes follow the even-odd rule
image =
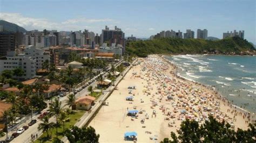
[[[62,109],[60,108],[60,105],[62,102],[59,102],[57,98],[55,98],[55,101],[52,102],[50,105],[50,115],[53,115],[56,117],[56,135],[58,137],[58,116]]]

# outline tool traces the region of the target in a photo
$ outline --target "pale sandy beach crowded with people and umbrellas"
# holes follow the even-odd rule
[[[160,142],[186,118],[203,123],[208,115],[234,128],[246,129],[253,121],[254,115],[238,110],[210,87],[176,76],[176,69],[158,55],[139,59],[89,124],[100,134],[99,142],[125,142],[124,133],[133,131],[138,142]],[[138,110],[138,117],[127,116],[131,110]]]

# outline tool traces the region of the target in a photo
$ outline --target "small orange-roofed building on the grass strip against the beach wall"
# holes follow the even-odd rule
[[[78,110],[90,110],[91,106],[94,105],[95,103],[95,97],[92,96],[84,96],[84,97],[79,97],[76,100],[76,109]]]

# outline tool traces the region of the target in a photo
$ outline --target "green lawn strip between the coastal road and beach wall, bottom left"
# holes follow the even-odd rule
[[[66,128],[70,128],[72,125],[75,125],[77,123],[77,121],[84,115],[84,113],[86,111],[84,110],[73,110],[74,113],[68,115],[68,118],[70,119],[70,121],[65,122],[65,129]],[[60,126],[58,127],[58,138],[62,139],[63,138],[63,123],[60,123]],[[56,137],[56,128],[53,128],[52,130],[49,131],[49,134],[51,134],[51,139],[53,139],[54,137]],[[43,135],[41,135],[41,137],[39,139],[42,139],[42,141],[40,141],[39,139],[36,140],[35,142],[52,142],[51,139],[47,139],[46,138],[47,133],[43,133]]]

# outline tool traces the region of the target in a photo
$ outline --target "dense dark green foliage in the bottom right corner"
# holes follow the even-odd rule
[[[255,125],[249,124],[248,130],[238,128],[235,132],[230,124],[219,122],[212,116],[202,125],[195,120],[186,119],[180,124],[178,137],[171,132],[172,140],[165,138],[161,142],[256,142]]]

